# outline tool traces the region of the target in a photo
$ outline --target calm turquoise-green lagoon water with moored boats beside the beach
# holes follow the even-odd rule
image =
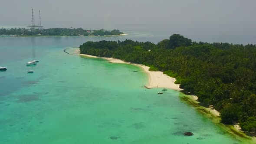
[[[167,38],[128,34],[0,38],[0,66],[7,67],[0,72],[0,144],[243,143],[182,102],[180,92],[145,89],[143,69],[63,52],[86,41]],[[33,59],[38,64],[26,66]]]

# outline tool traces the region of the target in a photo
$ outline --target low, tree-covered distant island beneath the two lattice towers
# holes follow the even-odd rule
[[[25,28],[12,28],[0,29],[0,35],[7,36],[118,36],[123,35],[118,29],[107,31],[105,29],[99,30],[86,30],[82,28],[69,29],[69,28],[50,28],[50,29],[25,29]]]

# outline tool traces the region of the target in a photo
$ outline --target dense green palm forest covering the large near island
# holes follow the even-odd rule
[[[220,111],[223,123],[239,122],[256,133],[256,46],[192,42],[174,34],[151,42],[100,41],[80,46],[82,54],[113,57],[150,66],[175,77],[185,92]]]

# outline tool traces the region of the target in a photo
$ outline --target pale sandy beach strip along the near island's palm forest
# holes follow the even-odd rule
[[[112,63],[123,63],[123,64],[130,64],[130,65],[139,66],[144,70],[144,72],[146,72],[148,74],[149,82],[148,82],[148,85],[146,85],[148,88],[170,88],[170,89],[180,91],[180,92],[183,90],[183,89],[179,88],[178,84],[174,84],[174,82],[176,81],[175,78],[169,77],[169,76],[163,74],[163,72],[149,71],[148,66],[135,64],[135,63],[131,63],[131,62],[125,62],[121,59],[106,58],[106,57],[80,54],[79,49],[77,49],[75,51],[75,53],[80,55],[80,56],[86,56],[86,57],[90,57],[90,58],[106,59],[106,60],[108,60],[109,62],[112,62]],[[186,94],[184,94],[184,95],[186,95]],[[197,111],[199,111],[203,115],[209,115],[210,114],[211,121],[213,121],[216,124],[220,124],[220,125],[225,126],[226,130],[230,131],[231,134],[235,134],[236,136],[239,136],[239,137],[251,139],[253,142],[256,142],[256,137],[247,136],[245,133],[243,133],[243,131],[241,131],[241,128],[237,123],[235,123],[233,125],[225,125],[225,124],[220,123],[220,112],[215,110],[213,108],[213,106],[211,106],[211,105],[208,108],[200,105],[200,102],[197,100],[198,98],[197,98],[196,95],[187,95],[187,98],[190,99],[190,100],[186,100],[188,104],[190,104],[194,107],[198,107]]]

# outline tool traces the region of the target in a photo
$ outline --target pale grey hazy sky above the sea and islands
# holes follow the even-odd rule
[[[141,29],[256,39],[256,0],[0,0],[0,26]],[[210,39],[208,40],[210,41]]]

